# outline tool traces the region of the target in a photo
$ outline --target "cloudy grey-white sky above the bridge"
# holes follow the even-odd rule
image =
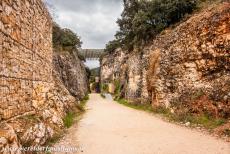
[[[82,48],[104,48],[118,30],[122,0],[45,0],[55,12],[54,20],[73,30],[83,41]]]

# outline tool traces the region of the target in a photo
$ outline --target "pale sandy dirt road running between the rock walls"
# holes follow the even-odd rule
[[[90,95],[87,109],[56,146],[79,145],[83,154],[230,154],[230,143],[97,94]]]

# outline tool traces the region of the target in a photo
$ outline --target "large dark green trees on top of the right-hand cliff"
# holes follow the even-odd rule
[[[124,0],[124,10],[117,23],[116,39],[106,45],[108,52],[118,46],[126,50],[142,46],[162,30],[191,13],[198,0]]]

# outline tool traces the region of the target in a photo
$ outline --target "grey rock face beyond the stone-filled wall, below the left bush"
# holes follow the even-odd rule
[[[69,92],[77,99],[88,92],[88,79],[84,64],[76,52],[55,52],[54,68]]]

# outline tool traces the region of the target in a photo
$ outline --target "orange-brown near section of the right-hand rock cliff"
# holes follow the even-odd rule
[[[152,103],[230,117],[230,3],[158,36],[149,62]]]

